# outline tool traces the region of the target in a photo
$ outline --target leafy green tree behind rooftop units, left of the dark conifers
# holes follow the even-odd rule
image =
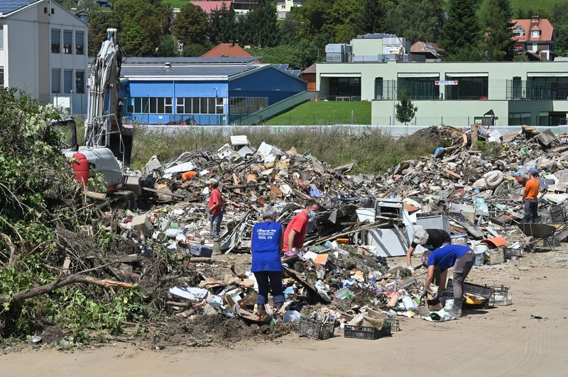
[[[400,0],[388,11],[388,28],[410,42],[437,42],[444,23],[443,0]]]

